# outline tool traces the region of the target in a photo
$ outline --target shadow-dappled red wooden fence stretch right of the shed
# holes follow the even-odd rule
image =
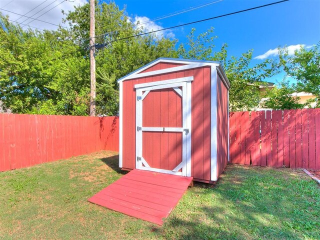
[[[230,161],[320,169],[320,108],[230,112]]]

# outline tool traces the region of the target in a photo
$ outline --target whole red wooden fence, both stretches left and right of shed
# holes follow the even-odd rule
[[[0,114],[0,171],[119,149],[114,116]],[[230,162],[320,169],[320,108],[230,112]]]

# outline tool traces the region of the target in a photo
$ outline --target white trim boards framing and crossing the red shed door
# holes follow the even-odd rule
[[[136,84],[136,168],[170,173],[175,175],[191,175],[191,81],[193,77],[182,77],[150,83]],[[143,126],[143,99],[156,90],[173,89],[182,99],[182,127]],[[175,104],[172,102],[172,104]],[[148,164],[142,156],[143,132],[176,132],[182,133],[182,159],[173,169],[155,168]],[[172,150],[172,149],[171,149]],[[174,149],[173,149],[174,150]]]

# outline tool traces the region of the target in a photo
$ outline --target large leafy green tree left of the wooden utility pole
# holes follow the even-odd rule
[[[61,30],[23,30],[1,16],[0,99],[17,113],[84,114],[87,60]],[[74,51],[75,54],[67,54]],[[85,106],[87,108],[87,106]]]

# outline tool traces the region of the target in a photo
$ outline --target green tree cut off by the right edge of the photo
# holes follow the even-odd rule
[[[301,45],[292,56],[286,47],[279,48],[279,67],[286,77],[296,80],[294,90],[312,93],[316,107],[320,107],[320,42],[309,50]]]

